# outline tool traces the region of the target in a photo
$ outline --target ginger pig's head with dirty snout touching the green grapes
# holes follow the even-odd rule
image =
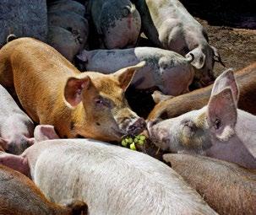
[[[144,62],[123,68],[116,73],[82,73],[69,78],[64,96],[68,105],[76,109],[80,122],[72,125],[74,132],[83,137],[101,141],[119,141],[123,135],[138,134],[144,130],[144,119],[136,115],[124,97],[136,69]]]

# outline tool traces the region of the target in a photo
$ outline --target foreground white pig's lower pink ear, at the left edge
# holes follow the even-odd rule
[[[0,164],[8,166],[9,168],[30,177],[30,166],[28,159],[25,156],[0,152]]]

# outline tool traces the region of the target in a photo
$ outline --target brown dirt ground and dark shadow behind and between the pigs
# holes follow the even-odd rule
[[[200,4],[200,1],[183,0],[182,3],[203,24],[209,35],[210,45],[218,49],[226,65],[223,67],[220,63],[215,63],[215,76],[228,67],[238,70],[256,62],[256,13],[249,7],[253,1],[247,0],[242,5],[235,3],[232,7],[228,6],[232,3],[228,0],[219,0],[217,3],[213,1],[208,6]],[[153,45],[149,40],[141,38],[139,46]],[[153,109],[155,104],[150,96],[153,91],[154,89],[147,92],[128,89],[128,103],[139,116],[146,117]]]

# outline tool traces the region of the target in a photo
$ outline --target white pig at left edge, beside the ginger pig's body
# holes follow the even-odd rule
[[[34,143],[34,123],[0,85],[0,147],[20,154]]]

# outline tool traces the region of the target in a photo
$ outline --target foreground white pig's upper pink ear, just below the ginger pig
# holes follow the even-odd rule
[[[54,130],[54,126],[39,125],[35,127],[34,131],[35,142],[41,142],[44,140],[58,139],[57,133]]]

